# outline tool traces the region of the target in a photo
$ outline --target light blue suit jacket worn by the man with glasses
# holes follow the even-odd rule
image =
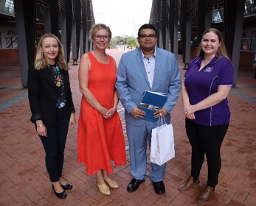
[[[168,98],[163,108],[168,113],[165,121],[170,123],[170,112],[179,98],[181,89],[181,75],[176,57],[169,51],[156,47],[156,65],[151,88],[141,49],[122,54],[117,68],[116,88],[120,101],[125,107],[125,121],[135,126],[145,124],[143,118],[136,119],[130,114],[131,110],[139,105],[143,90],[167,93]]]

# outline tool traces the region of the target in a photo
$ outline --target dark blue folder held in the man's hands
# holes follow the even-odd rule
[[[144,90],[142,93],[142,99],[140,100],[138,106],[140,110],[144,110],[146,112],[146,115],[143,117],[143,119],[156,122],[158,118],[155,118],[153,113],[164,106],[167,97],[168,96],[165,93]]]

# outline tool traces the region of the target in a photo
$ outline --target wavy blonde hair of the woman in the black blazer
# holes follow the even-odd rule
[[[38,49],[36,50],[36,56],[35,56],[35,62],[34,62],[35,69],[40,70],[44,68],[49,68],[49,63],[47,62],[46,58],[44,57],[44,54],[41,51],[41,46],[43,45],[43,40],[45,38],[55,38],[57,40],[59,52],[55,62],[60,66],[60,69],[68,70],[68,66],[66,65],[66,60],[64,57],[63,46],[60,43],[60,40],[58,39],[58,37],[56,37],[55,35],[52,35],[51,33],[44,34],[38,42]]]

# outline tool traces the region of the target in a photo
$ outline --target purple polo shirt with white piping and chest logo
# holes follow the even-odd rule
[[[202,57],[194,59],[184,74],[184,84],[190,98],[190,104],[196,104],[216,93],[219,85],[231,86],[234,83],[234,69],[225,57],[214,57],[201,71]],[[195,113],[196,119],[191,120],[204,126],[228,124],[230,110],[227,98],[222,102]]]

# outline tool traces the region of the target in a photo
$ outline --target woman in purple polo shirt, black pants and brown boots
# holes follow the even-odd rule
[[[188,191],[199,185],[206,154],[207,185],[196,199],[197,202],[206,202],[218,183],[221,143],[230,119],[227,96],[234,81],[234,70],[218,29],[210,28],[204,32],[197,57],[187,67],[184,77],[181,95],[192,157],[191,176],[179,191]]]

